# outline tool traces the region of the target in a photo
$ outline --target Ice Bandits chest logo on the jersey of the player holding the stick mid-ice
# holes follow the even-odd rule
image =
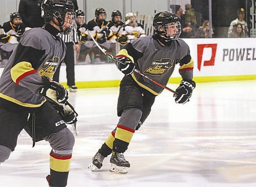
[[[174,62],[172,59],[169,58],[162,58],[161,60],[155,60],[152,62],[152,66],[148,67],[145,71],[144,74],[149,74],[149,75],[163,75],[165,74],[169,68],[174,66]]]

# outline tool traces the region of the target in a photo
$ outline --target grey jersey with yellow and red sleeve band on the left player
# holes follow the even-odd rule
[[[1,76],[0,105],[41,106],[46,101],[39,95],[44,86],[41,76],[53,78],[65,53],[66,45],[51,25],[25,31]]]

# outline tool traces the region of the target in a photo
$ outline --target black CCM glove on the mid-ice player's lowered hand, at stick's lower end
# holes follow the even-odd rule
[[[195,81],[186,78],[182,79],[180,86],[175,90],[178,93],[178,95],[174,95],[174,97],[177,96],[175,102],[181,104],[188,102],[195,87]]]

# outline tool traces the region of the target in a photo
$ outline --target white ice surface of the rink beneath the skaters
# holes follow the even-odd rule
[[[68,186],[256,186],[256,80],[198,83],[185,105],[172,96],[164,90],[156,98],[124,154],[131,168],[122,175],[109,172],[110,157],[101,170],[87,170],[118,122],[118,88],[70,93],[79,116]],[[48,186],[50,150],[44,141],[32,148],[22,131],[0,165],[0,186]]]

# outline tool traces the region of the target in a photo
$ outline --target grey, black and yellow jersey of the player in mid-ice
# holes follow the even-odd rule
[[[128,57],[135,63],[135,68],[162,85],[166,85],[179,64],[182,78],[193,78],[194,61],[191,59],[188,45],[182,39],[172,41],[171,45],[162,46],[156,36],[138,38],[124,46],[116,57]],[[137,84],[154,95],[159,95],[163,88],[134,72],[132,78]]]

